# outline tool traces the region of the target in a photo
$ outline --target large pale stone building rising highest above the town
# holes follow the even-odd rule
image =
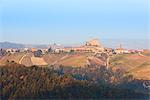
[[[70,52],[70,51],[75,51],[75,52],[103,52],[104,48],[98,39],[93,39],[93,40],[86,42],[86,44],[83,46],[64,48],[63,51],[64,52]]]

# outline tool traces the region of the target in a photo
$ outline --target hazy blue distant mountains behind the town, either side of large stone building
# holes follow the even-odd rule
[[[120,44],[123,48],[127,49],[150,49],[150,41],[147,39],[104,39],[101,41],[104,47],[108,48],[118,48]],[[80,46],[78,45],[71,45],[71,46]],[[70,47],[67,45],[65,47]],[[58,44],[52,45],[33,45],[33,44],[20,44],[20,43],[11,43],[11,42],[0,42],[0,48],[63,48],[64,46]]]

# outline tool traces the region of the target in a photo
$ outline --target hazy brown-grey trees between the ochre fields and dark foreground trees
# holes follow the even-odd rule
[[[77,80],[88,80],[97,84],[116,85],[134,80],[132,75],[124,76],[126,71],[116,69],[114,72],[111,68],[107,68],[106,66],[66,67],[60,65],[57,69],[55,69],[55,67],[56,66],[49,66],[49,68],[57,71],[61,75],[64,73],[70,74]]]

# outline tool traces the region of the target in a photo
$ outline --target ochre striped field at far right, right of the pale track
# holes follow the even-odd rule
[[[123,69],[136,79],[150,80],[150,57],[140,54],[115,55],[110,60],[110,67]]]

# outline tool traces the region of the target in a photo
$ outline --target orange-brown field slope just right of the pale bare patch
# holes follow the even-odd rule
[[[90,53],[61,53],[61,54],[46,54],[43,56],[48,64],[76,66],[81,67],[87,64],[87,56]]]

